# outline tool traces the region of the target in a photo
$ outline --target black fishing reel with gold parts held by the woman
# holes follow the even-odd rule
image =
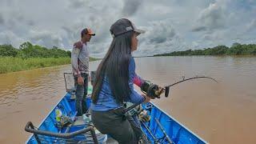
[[[162,88],[156,84],[151,83],[150,81],[145,81],[142,83],[141,90],[144,94],[150,98],[160,98],[162,93],[165,93],[165,96],[168,97],[169,87]]]

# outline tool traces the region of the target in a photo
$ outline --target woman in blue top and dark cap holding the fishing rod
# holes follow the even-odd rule
[[[138,122],[123,114],[124,102],[150,102],[150,97],[138,94],[134,83],[142,86],[142,78],[135,74],[131,52],[137,50],[138,34],[130,20],[122,18],[110,27],[113,40],[106,56],[98,66],[92,94],[91,117],[94,126],[119,143],[138,143],[142,130]]]

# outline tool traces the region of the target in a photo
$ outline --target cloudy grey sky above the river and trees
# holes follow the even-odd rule
[[[90,27],[90,55],[102,58],[119,18],[146,30],[134,56],[256,43],[255,0],[0,0],[0,44],[71,50]]]

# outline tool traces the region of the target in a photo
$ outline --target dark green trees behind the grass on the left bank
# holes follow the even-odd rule
[[[62,50],[54,46],[48,49],[43,46],[32,45],[30,42],[24,42],[18,48],[12,45],[0,45],[0,57],[13,58],[65,58],[71,57],[69,50]]]

